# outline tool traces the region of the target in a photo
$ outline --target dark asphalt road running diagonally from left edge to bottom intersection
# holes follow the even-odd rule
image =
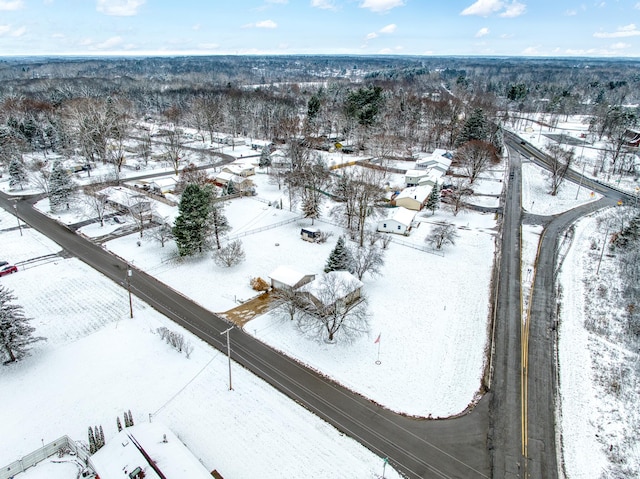
[[[13,202],[0,195],[0,206]],[[108,278],[125,285],[130,267],[63,225],[18,203],[23,221]],[[226,353],[229,324],[189,298],[133,269],[133,294],[171,320]],[[455,419],[424,420],[386,410],[328,378],[279,354],[239,329],[230,332],[232,359],[337,429],[354,438],[410,478],[488,478],[488,400]],[[233,366],[237,367],[237,366]]]

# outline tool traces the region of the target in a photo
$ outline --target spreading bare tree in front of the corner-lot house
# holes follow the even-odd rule
[[[335,272],[334,272],[335,273]],[[369,312],[364,296],[349,299],[347,293],[358,290],[361,283],[341,274],[326,274],[318,281],[313,292],[303,291],[300,298],[300,314],[296,318],[298,328],[305,334],[326,341],[334,341],[340,333],[345,341],[367,334]]]

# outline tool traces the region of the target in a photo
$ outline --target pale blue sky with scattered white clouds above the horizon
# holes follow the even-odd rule
[[[638,0],[0,0],[0,56],[640,57]]]

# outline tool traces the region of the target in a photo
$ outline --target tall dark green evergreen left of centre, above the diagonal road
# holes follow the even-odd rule
[[[173,226],[180,256],[192,256],[208,248],[212,196],[208,186],[189,184],[184,189]]]

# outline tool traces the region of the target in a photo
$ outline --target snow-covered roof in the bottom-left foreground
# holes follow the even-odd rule
[[[144,471],[146,479],[160,479],[138,446],[153,458],[166,479],[211,479],[182,441],[159,422],[126,427],[96,452],[91,461],[101,479],[128,478],[136,467]]]

